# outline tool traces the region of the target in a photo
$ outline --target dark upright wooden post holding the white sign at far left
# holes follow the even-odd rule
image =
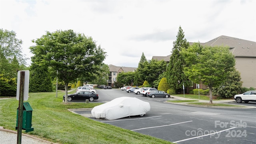
[[[17,144],[21,144],[22,136],[22,117],[23,117],[23,99],[24,99],[24,83],[25,83],[25,72],[20,72],[20,96],[19,96],[19,108],[18,108],[18,135]]]

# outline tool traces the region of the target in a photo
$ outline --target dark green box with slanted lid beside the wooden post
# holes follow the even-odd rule
[[[26,132],[34,131],[32,128],[32,108],[28,102],[23,102],[23,115],[22,115],[22,130]],[[17,108],[17,120],[16,120],[16,130],[18,129],[18,114],[19,110]]]

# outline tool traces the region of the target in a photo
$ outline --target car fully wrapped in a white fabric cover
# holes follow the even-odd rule
[[[114,120],[126,116],[137,116],[150,111],[150,104],[138,98],[120,97],[95,106],[92,116],[98,119]]]

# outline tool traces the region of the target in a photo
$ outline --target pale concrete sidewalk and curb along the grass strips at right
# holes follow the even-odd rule
[[[172,100],[198,100],[198,99],[191,99],[191,98],[184,98],[184,97],[179,97],[179,96],[170,96],[173,98]],[[204,102],[204,103],[209,103],[210,100],[198,100],[196,102]],[[246,106],[246,105],[240,105],[236,102],[235,100],[229,99],[229,100],[213,100],[212,101],[214,104],[230,104],[234,106],[209,106],[209,105],[198,105],[198,104],[188,104],[188,103],[193,103],[193,102],[167,102],[167,103],[172,103],[172,104],[181,104],[181,105],[188,105],[188,106],[197,106],[197,107],[208,107],[208,108],[256,108],[255,106]]]

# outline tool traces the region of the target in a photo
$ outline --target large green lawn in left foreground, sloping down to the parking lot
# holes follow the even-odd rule
[[[74,93],[74,91],[69,92]],[[27,134],[59,144],[172,144],[171,142],[140,134],[68,111],[68,108],[93,108],[100,103],[62,102],[64,92],[30,93],[32,127]],[[18,100],[0,100],[0,126],[15,130]],[[25,132],[23,130],[23,132]]]

